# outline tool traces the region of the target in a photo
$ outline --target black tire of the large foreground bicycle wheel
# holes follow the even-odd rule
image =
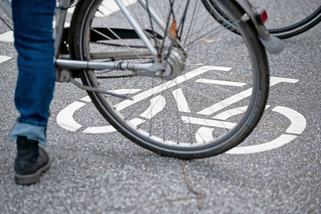
[[[234,11],[235,14],[241,16],[243,11],[241,8],[232,0],[219,0],[222,4],[226,4],[226,7],[229,7],[230,10]],[[84,47],[83,47],[83,37],[84,29],[83,27],[87,22],[87,15],[89,14],[89,10],[93,7],[92,4],[98,4],[100,0],[85,0],[80,2],[77,6],[74,16],[71,21],[71,28],[70,28],[70,55],[73,59],[78,60],[87,60],[86,54],[84,54]],[[226,3],[228,2],[228,3]],[[113,126],[115,127],[121,134],[125,137],[133,141],[134,143],[146,148],[152,152],[158,153],[163,156],[175,157],[180,159],[196,159],[196,158],[206,158],[211,157],[214,155],[218,155],[223,153],[239,143],[241,143],[254,129],[256,124],[259,122],[264,107],[267,101],[268,96],[268,89],[269,89],[269,69],[268,69],[268,62],[265,49],[261,42],[257,37],[257,33],[255,31],[254,26],[250,23],[244,23],[244,29],[246,32],[251,32],[249,35],[246,35],[247,41],[251,43],[251,53],[253,61],[255,61],[255,70],[257,70],[257,78],[258,82],[255,85],[255,89],[253,89],[253,105],[251,106],[251,111],[248,114],[247,119],[242,124],[242,129],[234,131],[233,135],[230,136],[228,139],[224,140],[219,145],[215,147],[206,146],[201,150],[194,151],[189,149],[174,148],[173,146],[166,146],[166,145],[158,145],[156,142],[152,142],[150,138],[145,138],[141,136],[137,132],[133,132],[125,123],[118,120],[116,114],[114,113],[114,108],[112,105],[108,105],[106,103],[106,99],[103,98],[100,94],[88,91],[90,98],[92,99],[93,103],[99,110],[99,112],[103,115],[103,117]],[[81,79],[84,85],[97,87],[98,84],[93,77],[93,72],[88,72],[83,70],[81,72]],[[108,102],[108,101],[107,101]]]

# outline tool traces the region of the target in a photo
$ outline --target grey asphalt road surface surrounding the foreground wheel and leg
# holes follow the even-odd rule
[[[57,83],[52,167],[31,186],[13,179],[17,53],[12,32],[0,27],[0,213],[321,213],[321,25],[269,55],[270,76],[282,81],[270,87],[253,140],[211,158],[167,158],[117,132],[82,133],[104,120],[81,99],[85,91]],[[74,102],[84,107],[68,113]],[[58,115],[83,128],[66,129]]]

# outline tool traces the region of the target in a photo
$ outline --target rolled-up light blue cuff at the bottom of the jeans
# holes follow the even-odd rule
[[[46,146],[46,127],[18,122],[14,125],[9,141],[14,141],[18,136],[25,136],[28,140],[38,141],[42,146]]]

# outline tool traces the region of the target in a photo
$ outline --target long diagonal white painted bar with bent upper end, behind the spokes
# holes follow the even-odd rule
[[[217,66],[204,66],[204,67],[198,68],[198,69],[190,71],[184,75],[178,76],[173,80],[167,81],[161,85],[158,85],[158,86],[153,87],[149,90],[143,91],[143,92],[131,97],[133,100],[127,99],[127,100],[124,100],[124,101],[118,103],[117,105],[115,105],[116,110],[121,111],[121,110],[127,108],[128,106],[135,104],[136,102],[139,102],[149,96],[152,96],[153,94],[156,94],[156,93],[162,92],[166,89],[169,89],[171,87],[174,87],[175,85],[178,85],[178,84],[185,82],[193,77],[201,75],[209,70],[229,71],[229,70],[231,70],[231,68],[217,67]]]

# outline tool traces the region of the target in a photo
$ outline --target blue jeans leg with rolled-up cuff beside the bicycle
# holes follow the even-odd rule
[[[18,81],[15,93],[20,113],[9,140],[26,136],[46,143],[49,104],[55,86],[52,21],[56,0],[13,0]]]

